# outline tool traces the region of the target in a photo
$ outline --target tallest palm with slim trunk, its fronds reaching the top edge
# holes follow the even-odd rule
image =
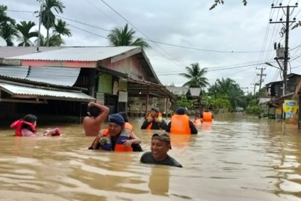
[[[42,23],[47,30],[46,40],[49,41],[49,30],[55,25],[55,15],[52,9],[54,9],[56,13],[62,14],[65,6],[60,0],[46,0],[42,7]],[[49,46],[49,42],[47,42],[47,46]]]

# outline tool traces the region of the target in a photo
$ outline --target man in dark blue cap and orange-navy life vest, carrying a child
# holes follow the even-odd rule
[[[110,115],[108,128],[100,131],[89,149],[143,151],[139,145],[141,141],[128,125],[120,114]]]

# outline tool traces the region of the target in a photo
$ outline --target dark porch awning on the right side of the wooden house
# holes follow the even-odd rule
[[[127,81],[129,97],[139,97],[147,95],[147,88],[149,88],[149,97],[174,98],[173,93],[170,92],[164,85],[135,79],[132,77],[128,77]]]

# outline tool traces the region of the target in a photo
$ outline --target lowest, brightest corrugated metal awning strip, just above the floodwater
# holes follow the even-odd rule
[[[29,86],[20,86],[16,84],[9,84],[0,82],[0,88],[12,95],[27,95],[39,98],[51,99],[72,99],[74,101],[90,101],[95,98],[81,92],[81,91],[63,91],[62,89],[52,90],[44,88],[34,88]]]

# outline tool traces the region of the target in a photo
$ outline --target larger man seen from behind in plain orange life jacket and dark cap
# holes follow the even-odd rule
[[[198,130],[189,117],[185,115],[184,108],[178,108],[176,114],[168,124],[166,132],[174,134],[198,134]]]

